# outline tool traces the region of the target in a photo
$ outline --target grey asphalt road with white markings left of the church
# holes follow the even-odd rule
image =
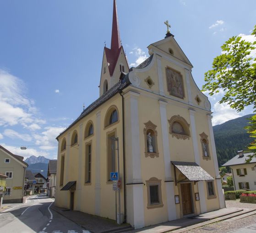
[[[0,213],[2,233],[89,233],[76,223],[50,209],[54,200],[33,196],[27,203],[14,205]]]

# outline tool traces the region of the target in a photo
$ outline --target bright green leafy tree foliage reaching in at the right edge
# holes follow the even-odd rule
[[[251,33],[256,39],[256,25]],[[245,106],[253,105],[256,111],[256,58],[252,51],[256,49],[256,41],[247,42],[242,37],[229,38],[222,46],[222,54],[213,59],[212,69],[205,73],[206,83],[203,91],[214,95],[220,90],[224,95],[219,103],[227,103],[231,108],[242,111]],[[256,115],[250,118],[251,123],[246,127],[250,137],[256,138]],[[256,157],[256,139],[248,149]]]

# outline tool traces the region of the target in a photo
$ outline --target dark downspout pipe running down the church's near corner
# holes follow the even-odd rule
[[[124,223],[126,223],[126,173],[125,173],[125,102],[123,91],[120,90],[119,94],[122,96],[122,122],[123,122],[123,170],[124,170]]]

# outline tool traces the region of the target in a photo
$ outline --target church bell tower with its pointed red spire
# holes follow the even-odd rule
[[[99,95],[103,95],[114,86],[119,81],[121,73],[128,72],[129,66],[120,40],[116,1],[114,0],[111,47],[107,48],[106,45],[104,47]]]

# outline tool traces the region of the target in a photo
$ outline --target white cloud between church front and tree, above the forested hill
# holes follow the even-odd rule
[[[212,117],[212,125],[222,124],[226,121],[235,119],[237,117],[242,116],[236,110],[229,107],[227,103],[219,104],[218,102],[213,105],[212,108],[213,117]]]

